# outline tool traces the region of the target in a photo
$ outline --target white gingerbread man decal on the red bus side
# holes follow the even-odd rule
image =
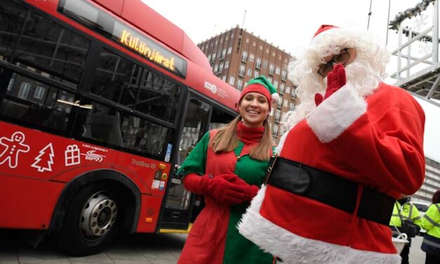
[[[20,152],[29,152],[29,145],[25,144],[25,134],[20,131],[14,132],[11,138],[0,138],[0,144],[6,147],[0,154],[0,164],[9,161],[11,169],[17,167]]]

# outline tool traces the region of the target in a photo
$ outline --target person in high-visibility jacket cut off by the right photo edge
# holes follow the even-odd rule
[[[425,264],[440,263],[440,190],[432,195],[432,205],[422,218],[422,228],[426,230],[422,251],[426,252]]]

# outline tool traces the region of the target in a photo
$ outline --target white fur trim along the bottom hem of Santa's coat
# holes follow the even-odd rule
[[[283,260],[283,263],[326,263],[326,264],[399,264],[398,254],[378,253],[352,249],[319,240],[295,235],[260,215],[260,207],[265,197],[263,185],[251,206],[237,225],[241,235],[251,240],[261,249]]]

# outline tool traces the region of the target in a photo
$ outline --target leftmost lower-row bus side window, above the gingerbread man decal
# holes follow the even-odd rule
[[[73,93],[13,73],[0,113],[27,124],[65,132],[73,104]]]

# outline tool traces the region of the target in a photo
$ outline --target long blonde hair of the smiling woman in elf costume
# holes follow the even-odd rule
[[[239,137],[236,135],[236,126],[241,121],[238,116],[232,120],[227,126],[218,129],[215,136],[209,140],[209,146],[215,153],[231,152],[239,145]],[[270,126],[267,119],[263,121],[265,132],[262,135],[260,143],[251,149],[249,156],[253,159],[265,161],[270,159],[272,154],[272,133],[270,133]]]

